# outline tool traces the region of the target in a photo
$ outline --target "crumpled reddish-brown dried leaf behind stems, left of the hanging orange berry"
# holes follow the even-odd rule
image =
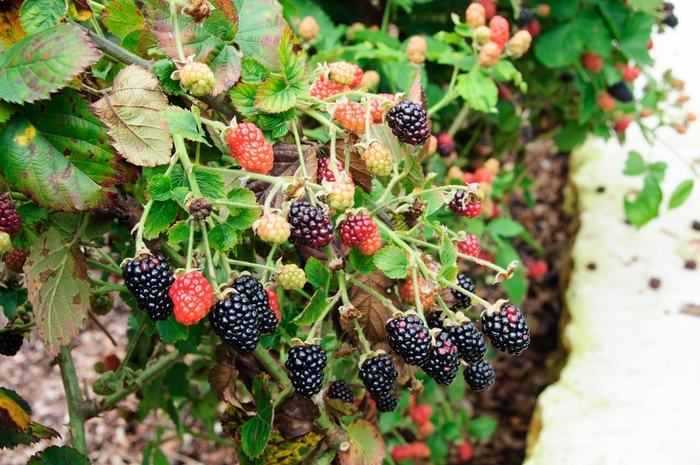
[[[395,306],[399,306],[396,294],[387,292],[391,280],[381,271],[375,271],[370,275],[360,275],[356,279],[377,294],[389,299]],[[391,309],[360,286],[353,286],[350,289],[349,297],[350,302],[360,311],[360,317],[357,321],[360,323],[360,328],[362,328],[362,332],[367,340],[370,342],[386,340],[385,325],[387,320],[391,318]],[[351,337],[357,338],[357,332],[352,321],[341,322],[341,327]]]

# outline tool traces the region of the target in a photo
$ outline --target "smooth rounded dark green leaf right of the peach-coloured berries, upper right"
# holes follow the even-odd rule
[[[565,22],[535,41],[535,57],[547,68],[563,68],[578,60],[585,42],[576,21]]]

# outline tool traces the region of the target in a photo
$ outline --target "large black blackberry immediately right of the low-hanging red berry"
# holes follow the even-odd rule
[[[216,302],[209,323],[222,341],[241,352],[255,350],[260,340],[258,312],[245,294],[232,292]]]

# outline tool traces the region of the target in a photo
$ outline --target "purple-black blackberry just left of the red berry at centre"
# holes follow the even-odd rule
[[[334,239],[333,222],[320,209],[309,202],[297,200],[289,209],[287,216],[292,234],[289,242],[321,248]]]

